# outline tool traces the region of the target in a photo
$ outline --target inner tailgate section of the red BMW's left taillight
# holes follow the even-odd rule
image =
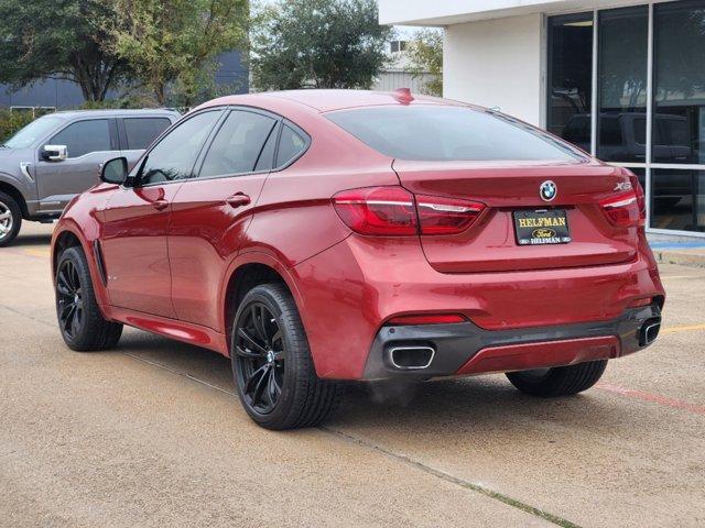
[[[416,209],[421,234],[455,234],[475,223],[485,204],[416,195]]]

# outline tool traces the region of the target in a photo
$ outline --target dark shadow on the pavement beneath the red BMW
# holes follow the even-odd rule
[[[175,374],[234,393],[230,360],[206,349],[128,329],[116,352]],[[431,382],[348,383],[340,409],[329,419],[335,429],[400,429],[406,433],[466,432],[508,436],[521,429],[604,430],[620,428],[629,406],[614,405],[599,389],[544,399],[516,391],[503,375]],[[589,418],[588,418],[589,417]],[[546,438],[547,443],[553,440]]]

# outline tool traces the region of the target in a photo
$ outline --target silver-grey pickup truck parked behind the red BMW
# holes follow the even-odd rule
[[[43,116],[0,145],[0,246],[22,220],[51,222],[98,183],[116,156],[134,163],[180,118],[172,110],[80,110]]]

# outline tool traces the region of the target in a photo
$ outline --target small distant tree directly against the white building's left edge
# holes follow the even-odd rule
[[[414,78],[431,78],[424,82],[422,92],[429,96],[443,96],[443,33],[424,29],[414,33],[406,44],[410,61],[409,72]]]

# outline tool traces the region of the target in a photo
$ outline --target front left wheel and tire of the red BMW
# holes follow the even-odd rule
[[[88,262],[80,248],[68,248],[59,255],[55,290],[58,328],[69,349],[98,351],[118,343],[122,324],[108,321],[100,314]]]

